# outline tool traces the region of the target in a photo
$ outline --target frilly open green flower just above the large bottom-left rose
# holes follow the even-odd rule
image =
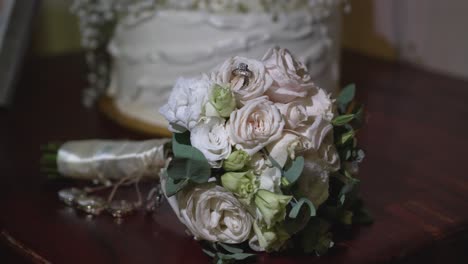
[[[221,176],[223,187],[239,197],[245,204],[250,204],[258,189],[257,177],[251,172],[227,172]]]

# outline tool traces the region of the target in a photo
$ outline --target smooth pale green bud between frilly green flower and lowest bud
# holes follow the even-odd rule
[[[255,195],[255,205],[262,213],[263,220],[270,228],[286,217],[286,205],[292,196],[276,194],[267,190],[258,190]]]

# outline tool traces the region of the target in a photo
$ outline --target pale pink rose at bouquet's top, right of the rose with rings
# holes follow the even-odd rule
[[[296,60],[287,49],[274,48],[267,51],[263,63],[273,79],[266,94],[270,100],[288,103],[304,97],[315,87],[307,67]]]

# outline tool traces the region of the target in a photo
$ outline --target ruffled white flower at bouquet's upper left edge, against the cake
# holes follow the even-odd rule
[[[182,133],[198,123],[211,86],[207,76],[176,81],[168,102],[159,110],[169,122],[170,131]]]

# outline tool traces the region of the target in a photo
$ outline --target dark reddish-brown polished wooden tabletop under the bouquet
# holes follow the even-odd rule
[[[84,109],[81,57],[30,59],[14,105],[0,112],[1,263],[209,263],[167,205],[116,223],[63,206],[39,173],[39,146],[86,138],[145,138]],[[324,257],[259,263],[468,263],[468,82],[345,52],[368,122],[360,178],[374,225]]]

